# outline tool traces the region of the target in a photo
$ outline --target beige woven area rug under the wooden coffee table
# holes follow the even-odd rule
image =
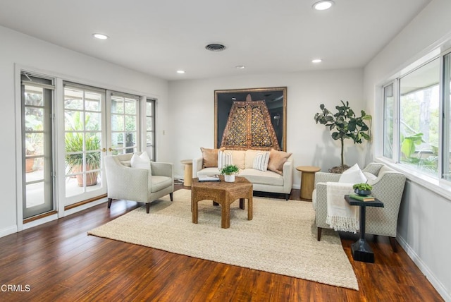
[[[354,270],[334,231],[316,240],[314,210],[299,200],[254,198],[254,219],[236,201],[230,228],[221,229],[221,206],[199,202],[199,224],[192,223],[191,191],[156,200],[147,214],[140,207],[88,234],[140,244],[195,258],[284,274],[323,284],[359,289]]]

